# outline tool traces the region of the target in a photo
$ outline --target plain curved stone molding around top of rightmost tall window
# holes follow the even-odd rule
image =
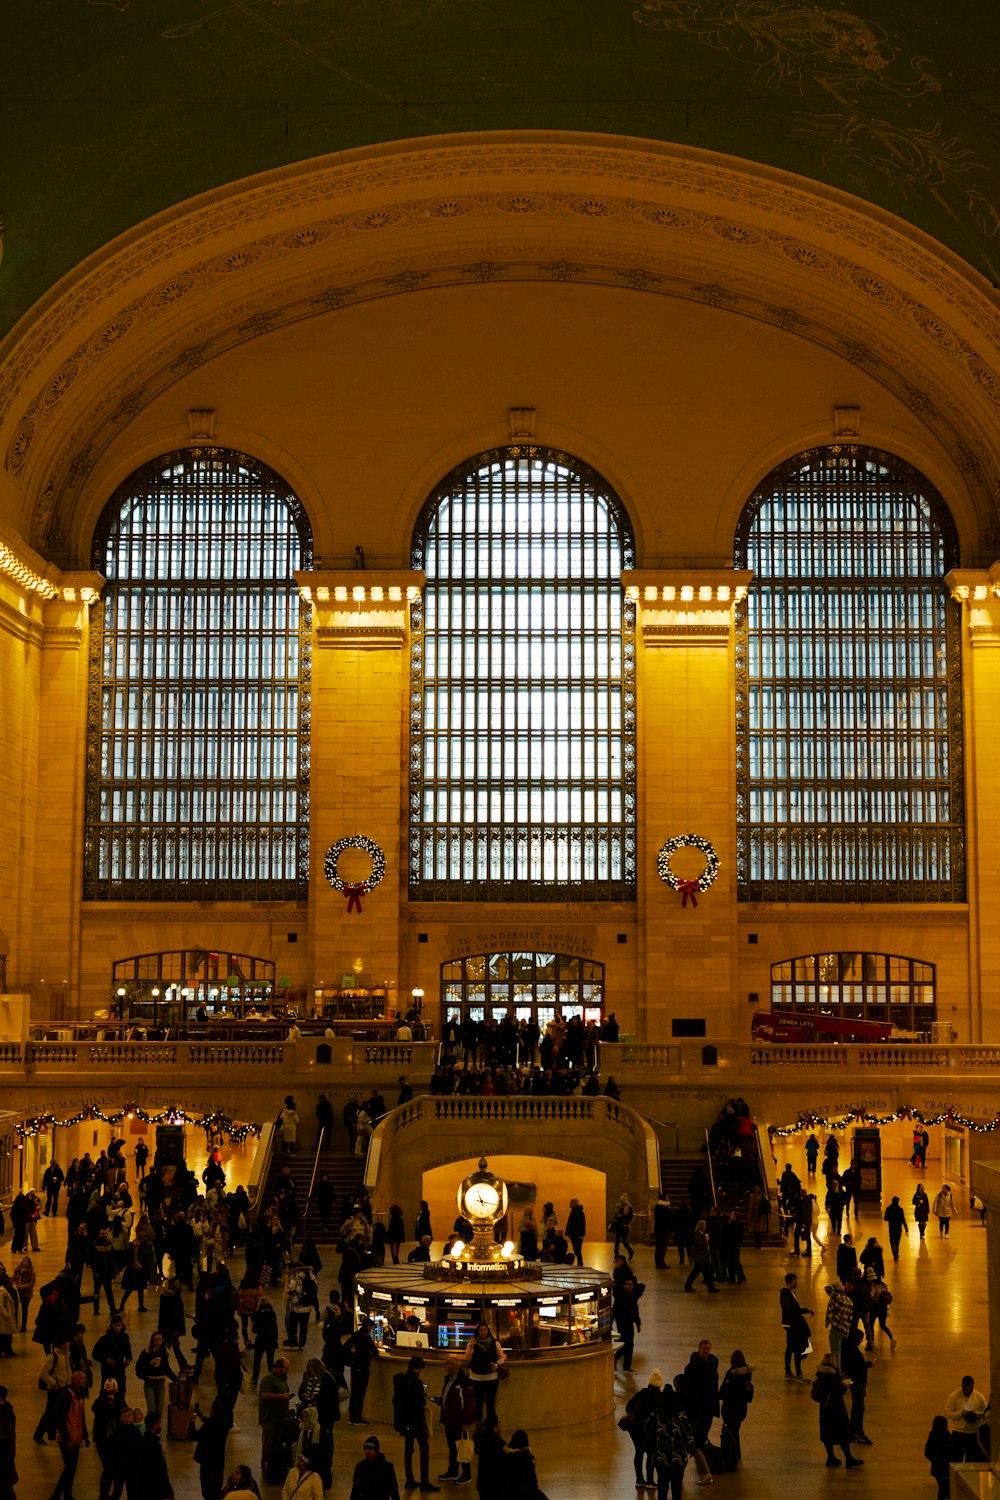
[[[966,483],[966,477],[955,465],[942,462],[942,453],[939,448],[928,442],[915,441],[912,432],[904,432],[900,428],[886,426],[879,422],[867,422],[864,411],[861,416],[861,434],[858,436],[835,436],[831,412],[831,422],[826,424],[798,428],[795,432],[786,432],[771,438],[757,453],[753,454],[744,468],[733,476],[723,504],[718,507],[718,526],[715,531],[717,544],[723,549],[724,555],[732,558],[739,518],[747,501],[754,490],[763,484],[768,474],[777,470],[787,459],[796,458],[799,453],[807,453],[811,448],[834,447],[838,442],[844,447],[861,446],[864,448],[882,448],[885,453],[894,453],[897,458],[906,459],[907,464],[912,464],[915,470],[924,474],[924,477],[930,480],[930,483],[942,495],[958,530],[960,542],[964,542],[970,536],[976,536],[975,504],[969,484]],[[964,564],[964,546],[961,550]],[[994,555],[1000,555],[1000,548]]]

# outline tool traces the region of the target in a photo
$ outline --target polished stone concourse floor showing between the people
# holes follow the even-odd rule
[[[780,1164],[790,1160],[796,1170],[802,1167],[801,1144],[789,1143],[780,1150]],[[237,1164],[234,1164],[237,1166]],[[243,1166],[240,1162],[238,1166]],[[940,1184],[940,1164],[928,1164],[927,1186],[933,1197]],[[819,1179],[822,1188],[822,1178]],[[886,1164],[885,1188],[888,1194],[898,1192],[909,1210],[916,1176],[906,1160]],[[822,1194],[820,1194],[822,1196]],[[960,1204],[966,1196],[957,1188]],[[888,1202],[888,1197],[885,1198]],[[882,1210],[862,1206],[861,1233],[882,1232]],[[825,1234],[825,1230],[823,1230]],[[880,1233],[888,1250],[888,1240]],[[58,1233],[54,1224],[42,1221],[42,1248],[37,1257],[40,1278],[54,1274],[61,1263],[63,1224]],[[588,1260],[598,1266],[610,1264],[610,1246],[588,1245]],[[10,1266],[9,1236],[4,1244],[7,1268]],[[672,1257],[675,1258],[675,1257]],[[826,1496],[850,1490],[852,1494],[874,1500],[876,1496],[921,1497],[934,1500],[934,1485],[924,1460],[924,1442],[931,1418],[942,1410],[945,1398],[970,1372],[982,1389],[988,1386],[987,1342],[987,1254],[985,1230],[978,1215],[963,1212],[952,1222],[951,1239],[939,1239],[934,1224],[928,1227],[927,1240],[921,1242],[912,1226],[909,1244],[904,1242],[898,1266],[889,1262],[894,1306],[891,1323],[895,1324],[897,1350],[892,1353],[879,1342],[879,1362],[868,1383],[867,1426],[874,1446],[864,1452],[865,1467],[855,1472],[828,1470],[823,1466],[823,1449],[819,1443],[817,1407],[810,1400],[808,1384],[792,1384],[783,1378],[781,1353],[784,1336],[778,1317],[778,1288],[790,1266],[799,1270],[802,1300],[819,1310],[816,1318],[822,1330],[823,1286],[828,1281],[828,1264],[832,1254],[814,1256],[813,1260],[793,1262],[787,1251],[747,1250],[744,1264],[748,1281],[742,1287],[724,1287],[717,1298],[709,1298],[699,1286],[696,1296],[684,1296],[682,1275],[672,1268],[657,1272],[652,1251],[639,1248],[636,1264],[646,1282],[642,1304],[643,1328],[636,1344],[636,1362],[631,1374],[618,1374],[615,1384],[616,1404],[621,1410],[628,1395],[646,1383],[654,1366],[673,1377],[687,1362],[696,1344],[709,1338],[723,1368],[729,1354],[741,1347],[754,1366],[756,1400],[744,1426],[744,1466],[738,1474],[718,1476],[717,1490],[733,1497],[769,1497],[790,1492]],[[234,1268],[234,1270],[238,1269]],[[334,1270],[328,1264],[321,1276],[322,1298],[331,1284]],[[147,1306],[154,1308],[154,1298]],[[154,1311],[139,1314],[135,1299],[126,1310],[126,1322],[133,1348],[138,1352],[154,1328]],[[91,1320],[93,1322],[93,1320]],[[91,1328],[93,1336],[103,1328],[103,1318]],[[814,1340],[817,1356],[826,1347]],[[310,1346],[306,1354],[318,1346],[316,1329],[310,1330]],[[19,1500],[43,1500],[54,1488],[60,1472],[55,1448],[36,1448],[31,1430],[42,1406],[37,1390],[39,1346],[28,1335],[15,1338],[18,1359],[4,1360],[0,1380],[6,1380],[10,1400],[18,1414],[19,1444],[18,1468],[21,1482]],[[297,1378],[304,1356],[292,1356],[292,1378]],[[807,1362],[813,1370],[816,1358]],[[514,1376],[516,1378],[516,1376]],[[133,1384],[133,1392],[138,1388]],[[435,1382],[436,1384],[436,1382]],[[211,1400],[211,1390],[201,1392],[202,1404]],[[502,1394],[501,1394],[502,1414]],[[346,1416],[346,1408],[345,1408]],[[402,1438],[391,1430],[391,1416],[376,1422],[384,1450],[396,1461],[402,1480]],[[237,1422],[241,1428],[229,1438],[231,1462],[244,1461],[259,1478],[259,1444],[256,1430],[256,1402],[241,1396],[237,1407]],[[561,1431],[532,1436],[538,1480],[550,1500],[607,1500],[634,1494],[631,1443],[627,1434],[618,1431],[613,1420],[598,1428],[571,1426]],[[345,1500],[351,1488],[351,1472],[360,1458],[364,1432],[349,1428],[346,1420],[337,1426],[334,1454],[334,1480],[328,1491],[334,1500]],[[199,1496],[198,1470],[192,1461],[187,1443],[168,1443],[168,1462],[178,1500]],[[435,1436],[432,1444],[432,1474],[444,1467],[444,1440]],[[93,1449],[81,1458],[75,1494],[76,1500],[96,1500],[97,1456]],[[445,1486],[445,1490],[450,1486]],[[690,1466],[685,1488],[694,1491],[696,1473]],[[276,1488],[264,1486],[264,1496],[277,1497]]]

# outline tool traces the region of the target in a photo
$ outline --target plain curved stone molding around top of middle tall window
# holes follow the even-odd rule
[[[513,400],[511,405],[514,405]],[[625,507],[625,514],[628,516],[636,543],[636,556],[645,556],[645,538],[642,528],[645,502],[628,465],[619,454],[612,453],[603,444],[597,442],[591,434],[577,432],[574,428],[564,428],[556,422],[546,422],[544,412],[537,412],[535,432],[528,440],[511,438],[510,422],[492,423],[489,426],[475,428],[471,432],[463,432],[445,447],[432,453],[424,464],[420,465],[402,490],[390,525],[390,550],[397,560],[397,567],[409,567],[409,549],[417,518],[420,516],[427,496],[438,488],[438,484],[441,484],[451,470],[465,464],[468,459],[475,458],[477,453],[486,453],[489,448],[502,448],[510,442],[526,442],[528,446],[537,444],[544,448],[556,448],[558,452],[567,453],[573,459],[582,459],[585,464],[589,464],[589,466],[600,474],[601,478],[607,480]]]

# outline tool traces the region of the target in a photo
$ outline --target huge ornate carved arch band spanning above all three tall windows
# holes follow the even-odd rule
[[[499,280],[684,297],[837,351],[954,454],[981,537],[996,534],[1000,312],[982,278],[903,220],[772,168],[531,132],[262,174],[81,264],[0,346],[0,454],[31,540],[72,552],[100,454],[220,352],[375,297]]]

